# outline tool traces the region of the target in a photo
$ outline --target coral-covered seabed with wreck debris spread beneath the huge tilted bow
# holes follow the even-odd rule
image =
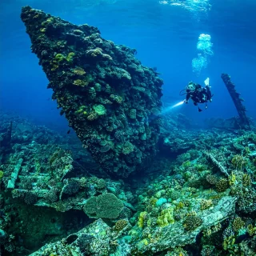
[[[4,126],[10,125],[9,117],[0,118]],[[10,148],[0,164],[4,253],[188,255],[194,251],[218,255],[253,251],[256,135],[214,128],[198,138],[189,127],[183,127],[184,132],[176,130],[182,120],[166,118],[160,137],[162,142],[165,138],[171,142],[175,135],[190,141],[188,147],[169,144],[168,148],[160,142],[160,154],[144,166],[145,174],[113,180],[94,166],[78,140],[13,117]],[[168,131],[168,126],[174,129]],[[22,129],[27,130],[26,138]],[[126,150],[132,148],[127,145]],[[30,222],[31,218],[35,221]]]

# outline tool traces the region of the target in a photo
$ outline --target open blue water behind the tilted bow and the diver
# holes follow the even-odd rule
[[[25,5],[70,22],[97,26],[103,38],[136,48],[142,64],[156,66],[162,74],[166,106],[183,99],[179,91],[189,81],[203,84],[209,77],[214,101],[208,110],[198,113],[192,103],[175,109],[194,122],[237,115],[220,78],[222,72],[231,75],[246,101],[248,115],[256,118],[254,0],[169,0],[162,3],[158,0],[2,0],[1,109],[66,130],[66,119],[58,114],[56,102],[51,101],[51,90],[46,90],[46,75],[38,66],[38,58],[30,53],[30,38],[20,19],[21,8]],[[210,34],[214,55],[197,76],[192,71],[191,61],[197,57],[198,36],[202,33]]]

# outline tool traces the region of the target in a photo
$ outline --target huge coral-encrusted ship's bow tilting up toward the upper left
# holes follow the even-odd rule
[[[93,26],[30,6],[21,17],[61,114],[104,170],[126,177],[156,151],[162,79]]]

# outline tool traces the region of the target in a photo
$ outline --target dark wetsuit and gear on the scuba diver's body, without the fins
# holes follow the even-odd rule
[[[188,102],[190,98],[194,102],[194,106],[198,106],[198,103],[207,103],[208,101],[211,101],[212,94],[210,92],[210,87],[202,87],[199,84],[194,84],[194,90],[186,90],[186,102]],[[199,108],[198,110],[202,111]]]

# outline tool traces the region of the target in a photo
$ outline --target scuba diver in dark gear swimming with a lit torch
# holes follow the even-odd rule
[[[212,97],[214,96],[210,92],[209,86],[210,79],[207,78],[205,81],[205,87],[200,86],[198,83],[189,82],[185,89],[181,90],[180,95],[186,94],[186,99],[184,100],[185,103],[189,102],[191,98],[194,106],[198,106],[198,103],[206,103],[206,109],[208,108],[207,102],[212,102]],[[183,91],[186,91],[182,94]],[[198,106],[198,112],[202,112],[202,110]]]

